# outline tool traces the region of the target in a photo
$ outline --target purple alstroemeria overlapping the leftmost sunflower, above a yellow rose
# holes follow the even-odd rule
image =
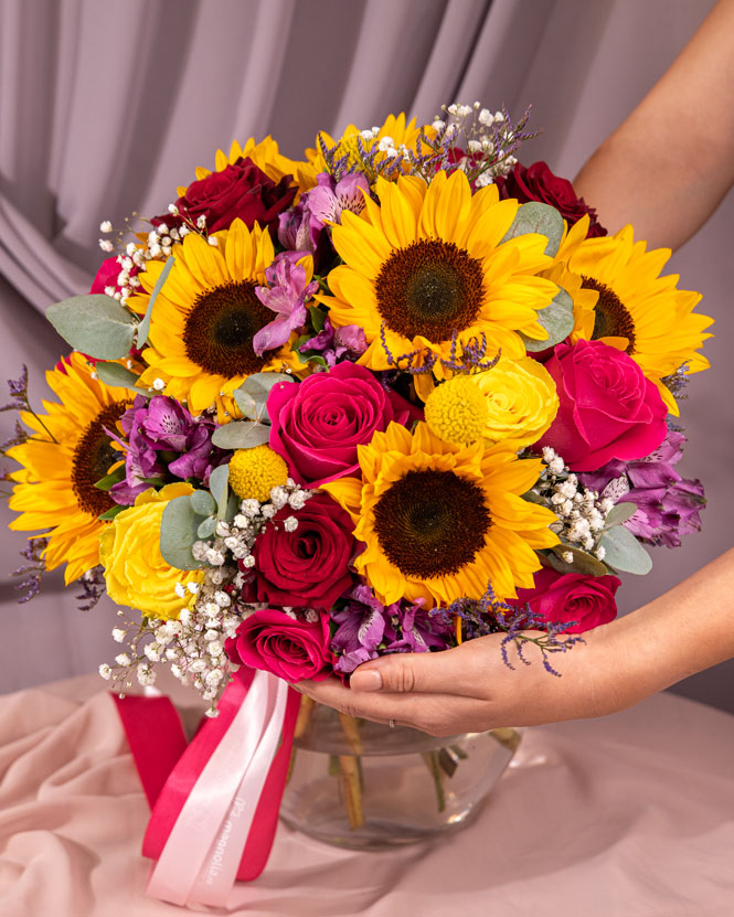
[[[206,483],[221,460],[222,451],[212,446],[213,420],[193,416],[174,398],[155,395],[146,401],[138,395],[120,418],[126,440],[125,480],[109,494],[116,503],[130,505],[150,487],[146,478],[194,478]]]

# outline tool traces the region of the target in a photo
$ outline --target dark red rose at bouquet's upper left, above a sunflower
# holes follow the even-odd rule
[[[183,215],[195,223],[202,214],[206,217],[206,232],[226,230],[237,217],[252,230],[255,222],[267,226],[275,235],[278,214],[290,206],[297,188],[290,186],[290,175],[276,184],[248,157],[240,157],[221,172],[212,172],[205,179],[192,182],[185,194],[175,202],[180,214],[166,213],[155,216],[153,226],[181,226]]]

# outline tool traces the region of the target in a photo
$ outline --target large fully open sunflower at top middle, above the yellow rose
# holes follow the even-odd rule
[[[494,185],[472,196],[458,171],[438,172],[429,185],[415,177],[377,179],[376,190],[379,205],[365,196],[361,216],[344,213],[333,227],[344,264],[329,274],[334,296],[320,298],[334,326],[364,330],[361,364],[387,370],[389,353],[415,352],[414,365],[437,360],[434,374],[444,378],[450,373],[440,360],[451,358],[453,335],[459,346],[486,335],[490,354],[515,358],[525,355],[518,332],[547,337],[538,310],[557,287],[535,276],[552,264],[546,238],[530,233],[500,244],[517,201],[500,201]]]

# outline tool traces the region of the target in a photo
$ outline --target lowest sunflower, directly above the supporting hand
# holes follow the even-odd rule
[[[359,447],[363,480],[322,484],[355,523],[365,548],[355,567],[385,605],[401,596],[426,607],[467,596],[491,583],[503,597],[532,588],[535,548],[557,543],[555,514],[525,493],[542,471],[511,446],[457,446],[419,423],[414,434],[391,423]]]

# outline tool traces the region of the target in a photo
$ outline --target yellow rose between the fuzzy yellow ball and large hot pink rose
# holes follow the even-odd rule
[[[539,440],[555,419],[555,383],[545,366],[531,356],[502,359],[470,378],[487,397],[489,418],[483,436],[491,442],[511,442],[521,449]]]

